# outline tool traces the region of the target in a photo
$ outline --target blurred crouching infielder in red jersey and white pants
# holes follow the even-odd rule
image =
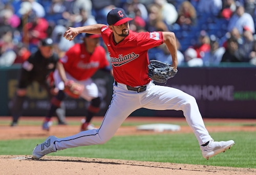
[[[90,122],[100,110],[102,97],[91,77],[98,69],[111,72],[105,49],[100,46],[100,37],[92,34],[83,35],[83,42],[73,45],[58,62],[54,80],[59,91],[51,101],[50,110],[42,124],[43,130],[49,130],[52,115],[66,95],[73,98],[81,96],[90,102],[86,119],[81,124],[81,131],[94,129]]]

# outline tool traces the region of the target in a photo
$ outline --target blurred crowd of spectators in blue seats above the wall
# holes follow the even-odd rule
[[[107,24],[106,14],[115,7],[134,18],[133,31],[174,32],[180,65],[256,65],[255,0],[2,0],[0,66],[23,63],[46,37],[63,56],[81,42],[79,36],[72,42],[62,37],[68,27]],[[148,56],[172,62],[164,44],[150,49]]]

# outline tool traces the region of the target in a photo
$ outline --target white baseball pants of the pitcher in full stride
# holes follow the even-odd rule
[[[127,90],[126,85],[113,84],[113,97],[108,111],[103,118],[99,129],[82,131],[76,135],[59,138],[55,142],[57,150],[103,144],[110,140],[122,122],[139,108],[153,110],[182,110],[186,121],[197,137],[199,144],[211,140],[196,99],[175,88],[148,83],[144,92]]]

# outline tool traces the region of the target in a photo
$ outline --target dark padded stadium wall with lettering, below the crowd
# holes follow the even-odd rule
[[[15,93],[20,65],[0,68],[0,116],[11,115],[11,99]],[[113,77],[98,71],[93,76],[104,102],[98,115],[104,115],[112,99]],[[256,118],[256,67],[179,67],[167,84],[193,95],[204,118]],[[88,103],[83,99],[65,100],[67,116],[83,116]],[[44,116],[49,106],[47,92],[37,83],[28,87],[23,116]],[[182,111],[139,109],[131,116],[182,117]]]

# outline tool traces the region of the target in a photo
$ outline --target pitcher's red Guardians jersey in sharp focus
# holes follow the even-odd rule
[[[135,87],[151,81],[147,75],[147,51],[163,43],[162,32],[137,33],[130,30],[129,35],[116,44],[113,32],[104,26],[101,28],[101,36],[108,47],[114,79],[118,83]]]

